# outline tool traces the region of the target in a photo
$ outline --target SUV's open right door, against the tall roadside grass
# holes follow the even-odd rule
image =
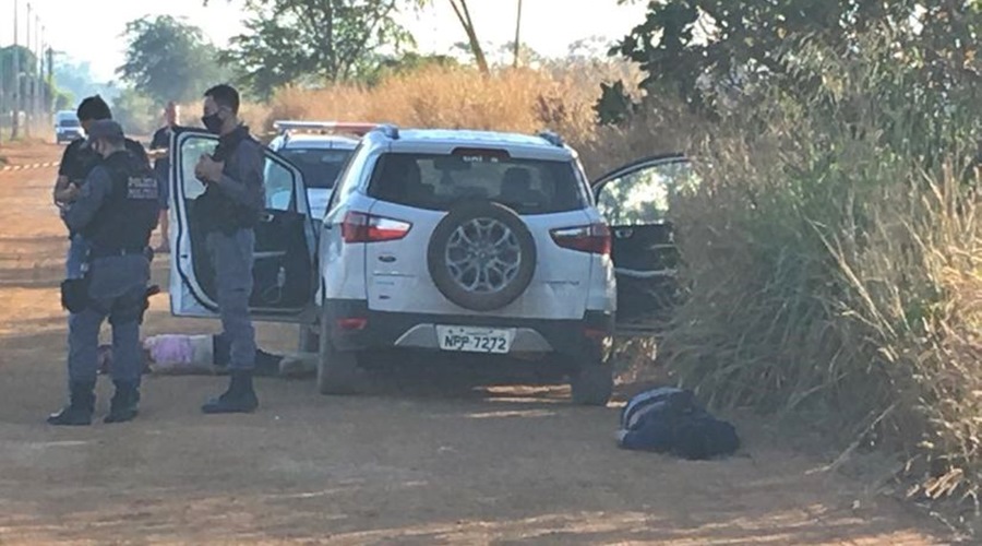
[[[668,221],[671,197],[698,183],[679,154],[646,157],[594,182],[610,226],[618,281],[618,332],[650,333],[678,301],[679,250]]]

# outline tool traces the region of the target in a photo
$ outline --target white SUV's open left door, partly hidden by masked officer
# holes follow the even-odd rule
[[[195,199],[204,185],[194,176],[202,154],[218,144],[214,134],[178,130],[170,142],[170,309],[179,317],[217,317],[215,271],[205,247]],[[255,228],[250,311],[254,320],[300,322],[316,292],[316,232],[300,171],[263,147],[266,207]]]

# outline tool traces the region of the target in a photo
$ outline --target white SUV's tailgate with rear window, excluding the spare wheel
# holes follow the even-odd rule
[[[448,155],[383,155],[369,185],[372,202],[367,212],[411,227],[397,240],[366,245],[370,309],[515,319],[583,318],[594,257],[561,248],[551,233],[591,224],[588,190],[568,161],[523,158],[517,153],[503,158],[502,154],[504,150],[459,147]],[[386,162],[399,158],[418,166],[414,182],[400,177],[398,169],[391,178],[386,174]],[[519,183],[508,183],[507,178]],[[514,200],[508,197],[513,186],[525,188],[515,192]],[[447,215],[451,203],[465,195],[515,209],[537,247],[537,268],[529,286],[518,299],[492,311],[474,311],[454,304],[440,292],[428,269],[427,252],[435,227]]]

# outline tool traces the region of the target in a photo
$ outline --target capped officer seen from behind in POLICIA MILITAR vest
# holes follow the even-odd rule
[[[89,147],[103,161],[85,178],[64,214],[72,233],[88,245],[87,271],[71,285],[69,310],[70,403],[51,415],[51,425],[88,425],[95,407],[99,329],[112,325],[112,382],[116,393],[106,423],[136,416],[142,352],[140,323],[149,281],[145,250],[159,214],[157,181],[145,161],[127,151],[122,129],[98,120],[86,129]]]

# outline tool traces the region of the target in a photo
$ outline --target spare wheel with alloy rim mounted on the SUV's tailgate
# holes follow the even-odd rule
[[[436,288],[471,311],[493,311],[525,294],[536,241],[515,211],[492,201],[450,210],[430,237],[427,265]]]

